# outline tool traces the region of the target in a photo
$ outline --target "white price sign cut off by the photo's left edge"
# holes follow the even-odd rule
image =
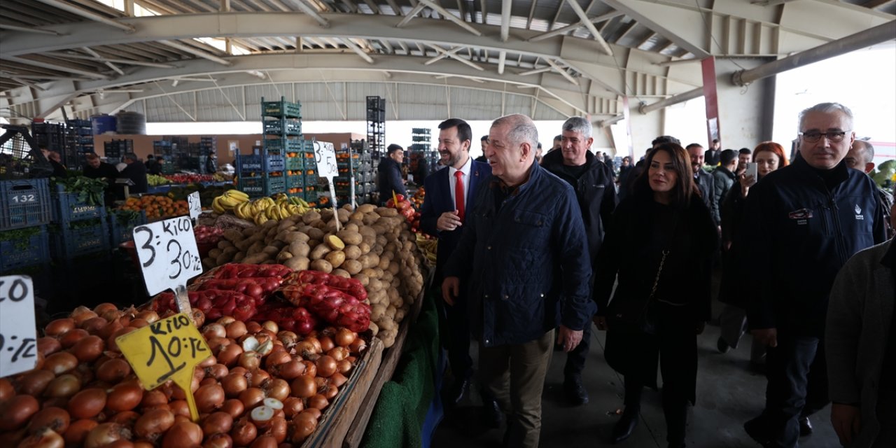
[[[24,275],[0,277],[0,377],[37,364],[34,285]]]

